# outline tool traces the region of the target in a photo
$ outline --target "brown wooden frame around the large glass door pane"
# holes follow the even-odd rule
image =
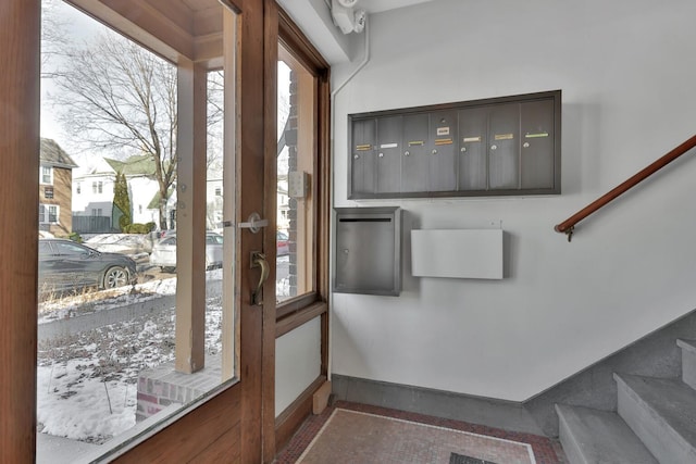
[[[266,75],[269,63],[265,40],[272,22],[266,17],[272,0],[234,0],[229,4],[240,20],[239,95],[240,140],[245,160],[238,175],[263,189],[263,164],[266,147],[264,89],[275,88],[275,72]],[[271,8],[271,5],[273,5]],[[38,167],[39,167],[39,73],[40,1],[9,0],[0,3],[0,134],[3,170],[0,172],[3,222],[0,225],[0,349],[3,356],[0,375],[0,449],[3,459],[30,463],[36,459],[36,325],[38,243]],[[275,67],[273,65],[272,70]],[[259,78],[264,76],[264,78]],[[273,96],[275,100],[275,96]],[[273,146],[275,146],[275,140]],[[249,183],[249,185],[252,185]],[[263,211],[263,196],[243,189],[246,198],[259,198],[244,204],[238,217],[250,210]],[[28,214],[28,213],[30,214]],[[263,249],[272,242],[269,234],[240,234],[243,249]],[[273,234],[273,237],[275,235]],[[275,247],[275,242],[272,242]],[[239,253],[239,266],[250,265],[248,253]],[[246,255],[245,255],[246,254]],[[221,460],[233,462],[270,462],[275,443],[273,421],[275,308],[250,306],[252,273],[245,273],[239,288],[243,304],[238,308],[244,327],[240,337],[243,381],[227,388],[191,410],[116,462],[172,462]],[[270,285],[270,284],[269,284]],[[268,286],[266,286],[268,288]],[[271,299],[270,299],[271,300]],[[8,379],[10,379],[8,381]],[[268,443],[262,441],[268,437]]]

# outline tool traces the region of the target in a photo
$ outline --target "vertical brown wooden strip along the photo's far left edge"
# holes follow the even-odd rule
[[[36,324],[39,203],[38,0],[0,2],[0,450],[36,453]]]

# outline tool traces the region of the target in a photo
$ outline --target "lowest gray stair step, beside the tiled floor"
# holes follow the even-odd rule
[[[562,404],[556,412],[570,464],[657,464],[617,413]]]

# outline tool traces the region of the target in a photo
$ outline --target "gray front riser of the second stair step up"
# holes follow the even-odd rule
[[[647,407],[622,381],[618,387],[618,412],[660,463],[694,464],[696,450],[669,428],[655,411]]]

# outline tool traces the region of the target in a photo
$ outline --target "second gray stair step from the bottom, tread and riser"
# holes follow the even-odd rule
[[[680,379],[614,374],[619,415],[661,463],[696,463],[696,391]]]

